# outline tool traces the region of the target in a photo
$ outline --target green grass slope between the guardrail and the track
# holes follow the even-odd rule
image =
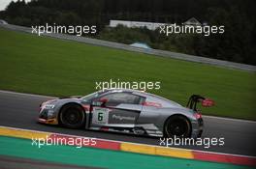
[[[214,99],[204,114],[256,120],[256,73],[0,29],[0,89],[49,96],[84,95],[96,81],[161,81],[148,91],[185,104]]]

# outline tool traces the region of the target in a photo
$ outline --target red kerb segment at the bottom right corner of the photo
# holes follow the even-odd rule
[[[256,157],[253,156],[223,155],[197,151],[193,151],[192,153],[194,155],[194,159],[198,160],[256,166]]]

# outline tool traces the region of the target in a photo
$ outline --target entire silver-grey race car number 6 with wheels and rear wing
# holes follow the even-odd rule
[[[203,106],[214,104],[211,99],[193,95],[183,107],[170,99],[137,90],[109,89],[85,97],[43,102],[38,121],[69,128],[197,138],[203,132],[198,102]]]

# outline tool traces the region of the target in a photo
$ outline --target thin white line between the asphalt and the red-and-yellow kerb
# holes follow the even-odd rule
[[[158,147],[158,148],[170,148],[170,149],[175,149],[175,150],[194,151],[194,152],[201,152],[201,153],[215,154],[215,155],[235,155],[235,156],[256,158],[256,156],[252,156],[252,155],[236,155],[236,154],[226,154],[226,153],[217,153],[217,152],[200,151],[200,150],[194,150],[194,149],[184,149],[184,148],[175,148],[175,147],[164,147],[164,146],[158,146],[158,145],[149,145],[149,144],[142,144],[142,143],[126,142],[126,141],[117,141],[117,140],[110,140],[110,139],[96,138],[96,137],[84,137],[84,136],[79,136],[79,135],[63,134],[63,133],[59,133],[59,132],[48,132],[48,131],[40,131],[40,130],[33,130],[33,129],[24,129],[24,128],[18,128],[18,127],[5,127],[5,126],[0,126],[0,127],[9,128],[9,129],[16,129],[16,130],[23,130],[23,131],[32,131],[32,132],[40,132],[40,133],[59,134],[59,135],[64,135],[64,136],[69,136],[69,137],[94,138],[94,139],[101,140],[101,141],[109,141],[109,142],[115,142],[115,143],[130,143],[130,144],[134,144],[134,145],[143,145],[143,146],[151,146],[151,147]],[[0,135],[0,136],[1,136],[1,135]],[[96,141],[97,141],[97,140],[96,140]]]

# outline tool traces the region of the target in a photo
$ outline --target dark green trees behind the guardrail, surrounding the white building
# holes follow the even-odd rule
[[[97,38],[114,42],[146,42],[153,48],[256,65],[254,0],[32,0],[11,2],[0,17],[18,25],[97,25]],[[108,28],[110,19],[182,23],[196,17],[208,25],[224,25],[222,35],[179,34]]]

